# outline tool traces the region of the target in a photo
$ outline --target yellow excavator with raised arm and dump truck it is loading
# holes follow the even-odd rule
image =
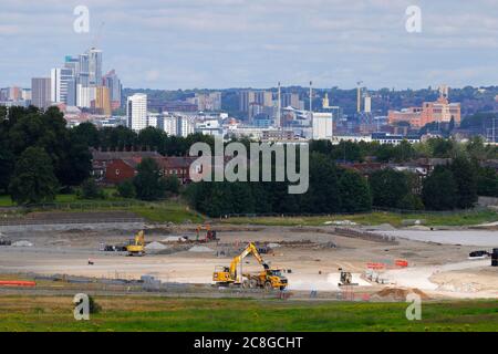
[[[242,261],[249,254],[252,254],[259,264],[262,266],[263,270],[261,272],[242,274]],[[240,268],[240,271],[238,268]],[[288,285],[287,278],[282,275],[281,270],[270,269],[261,254],[259,254],[258,248],[252,242],[246,247],[242,253],[231,260],[230,267],[216,267],[215,272],[212,273],[212,280],[218,285],[239,285],[253,289],[264,288],[267,290],[283,290]]]

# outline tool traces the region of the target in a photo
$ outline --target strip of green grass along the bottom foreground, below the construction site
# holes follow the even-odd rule
[[[0,296],[0,331],[498,331],[498,301],[406,303],[96,298],[102,310],[75,321],[71,298]]]

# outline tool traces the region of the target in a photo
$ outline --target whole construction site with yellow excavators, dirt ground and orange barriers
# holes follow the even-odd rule
[[[125,211],[40,212],[3,222],[0,232],[2,294],[71,294],[80,287],[96,294],[373,302],[404,302],[408,293],[498,296],[497,222],[175,225]]]

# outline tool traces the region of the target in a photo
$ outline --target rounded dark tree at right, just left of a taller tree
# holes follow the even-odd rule
[[[458,186],[452,170],[446,166],[436,166],[425,178],[422,188],[422,199],[427,209],[452,210],[457,206]]]

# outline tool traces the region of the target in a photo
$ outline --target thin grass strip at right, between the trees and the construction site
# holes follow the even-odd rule
[[[426,226],[468,226],[498,220],[498,214],[492,210],[455,211],[448,214],[396,214],[396,212],[367,212],[355,215],[332,215],[319,217],[238,217],[225,219],[222,222],[232,225],[262,225],[262,226],[323,226],[326,221],[350,220],[361,225],[391,223],[400,227],[403,220],[421,219]]]

